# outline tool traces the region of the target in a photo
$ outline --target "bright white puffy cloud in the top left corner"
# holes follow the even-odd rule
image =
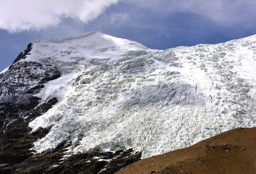
[[[63,18],[83,23],[118,0],[0,0],[0,29],[9,32],[57,26]]]

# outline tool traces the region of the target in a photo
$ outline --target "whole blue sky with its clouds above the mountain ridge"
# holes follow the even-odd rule
[[[36,39],[102,31],[165,50],[256,34],[256,0],[0,0],[0,71]]]

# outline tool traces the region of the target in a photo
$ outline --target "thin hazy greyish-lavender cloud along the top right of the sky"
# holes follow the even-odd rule
[[[121,0],[159,13],[188,12],[232,25],[256,18],[256,0]]]

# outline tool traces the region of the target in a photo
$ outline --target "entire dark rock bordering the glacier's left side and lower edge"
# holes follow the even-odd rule
[[[23,61],[32,46],[30,43],[9,70],[0,74],[0,174],[113,174],[140,160],[141,152],[132,149],[68,154],[65,148],[71,142],[53,153],[33,156],[33,143],[49,130],[30,133],[28,124],[58,102],[52,98],[41,104],[41,99],[34,95],[61,73],[50,64]]]

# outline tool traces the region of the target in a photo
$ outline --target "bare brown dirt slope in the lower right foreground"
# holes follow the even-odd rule
[[[223,132],[137,161],[116,174],[256,174],[256,128]]]

